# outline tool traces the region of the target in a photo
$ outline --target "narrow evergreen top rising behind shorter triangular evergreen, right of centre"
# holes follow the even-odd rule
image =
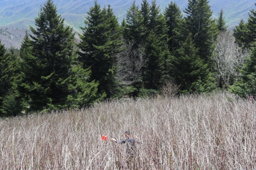
[[[183,27],[183,19],[180,8],[175,4],[175,2],[171,2],[168,7],[165,8],[165,19],[167,26],[167,36],[168,36],[168,46],[170,52],[175,54],[177,49],[180,48],[181,41],[183,39],[183,34],[185,31],[182,31]]]

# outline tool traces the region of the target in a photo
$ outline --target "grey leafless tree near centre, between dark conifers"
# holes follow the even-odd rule
[[[134,49],[134,43],[126,43],[121,53],[116,55],[116,73],[115,78],[125,86],[137,82],[142,72],[142,67],[146,64],[145,52],[143,48]]]

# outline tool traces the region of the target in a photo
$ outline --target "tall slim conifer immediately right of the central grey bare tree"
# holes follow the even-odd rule
[[[147,64],[142,80],[146,89],[158,90],[159,85],[169,77],[171,55],[167,48],[166,19],[156,1],[151,3],[149,19],[150,33],[145,45]]]

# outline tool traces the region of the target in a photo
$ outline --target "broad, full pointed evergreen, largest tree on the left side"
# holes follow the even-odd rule
[[[57,7],[48,0],[30,27],[31,40],[25,36],[20,56],[22,79],[20,91],[27,101],[27,112],[69,107],[68,83],[74,60],[73,29],[65,27]]]

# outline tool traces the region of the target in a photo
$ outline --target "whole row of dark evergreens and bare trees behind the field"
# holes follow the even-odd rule
[[[155,0],[140,7],[134,1],[119,24],[110,5],[95,1],[77,41],[48,0],[19,51],[0,42],[0,116],[145,97],[166,83],[177,84],[178,94],[254,95],[254,10],[234,34],[222,10],[211,18],[207,0],[188,0],[184,12],[174,2],[162,13]]]

